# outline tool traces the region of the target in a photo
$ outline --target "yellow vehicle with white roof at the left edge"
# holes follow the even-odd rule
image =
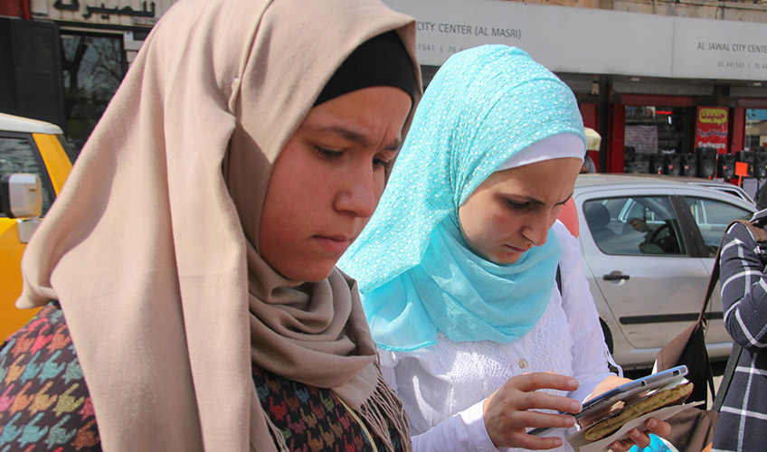
[[[61,127],[0,113],[0,193],[3,193],[0,195],[3,206],[0,209],[0,343],[35,314],[34,310],[14,306],[22,291],[22,254],[40,218],[61,192],[75,156]],[[26,205],[34,205],[33,198],[40,203],[34,184],[39,184],[37,190],[42,192],[42,206],[38,205],[36,212],[34,208],[27,210]]]

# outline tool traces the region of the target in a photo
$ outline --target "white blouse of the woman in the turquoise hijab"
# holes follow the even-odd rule
[[[454,343],[439,334],[437,344],[413,352],[379,349],[384,378],[404,403],[415,451],[497,450],[485,429],[482,402],[515,375],[572,375],[580,381],[577,391],[551,392],[582,401],[611,374],[578,242],[559,221],[554,231],[562,246],[562,295],[554,287],[541,320],[521,339]],[[552,450],[573,449],[564,441]]]

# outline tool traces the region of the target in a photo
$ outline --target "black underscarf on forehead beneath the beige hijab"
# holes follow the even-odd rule
[[[396,32],[379,34],[360,44],[327,81],[314,105],[374,86],[400,88],[414,99],[412,61]]]

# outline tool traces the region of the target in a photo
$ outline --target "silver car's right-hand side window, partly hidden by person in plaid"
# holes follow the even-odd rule
[[[685,196],[685,201],[703,236],[709,258],[716,256],[727,225],[734,220],[748,220],[752,215],[741,207],[713,199]]]

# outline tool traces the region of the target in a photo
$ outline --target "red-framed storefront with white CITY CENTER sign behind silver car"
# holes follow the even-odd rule
[[[697,168],[697,148],[735,154],[767,141],[767,24],[502,1],[384,2],[416,17],[426,82],[450,54],[486,43],[520,47],[557,73],[602,137],[590,153],[600,172],[684,174],[685,165]]]

